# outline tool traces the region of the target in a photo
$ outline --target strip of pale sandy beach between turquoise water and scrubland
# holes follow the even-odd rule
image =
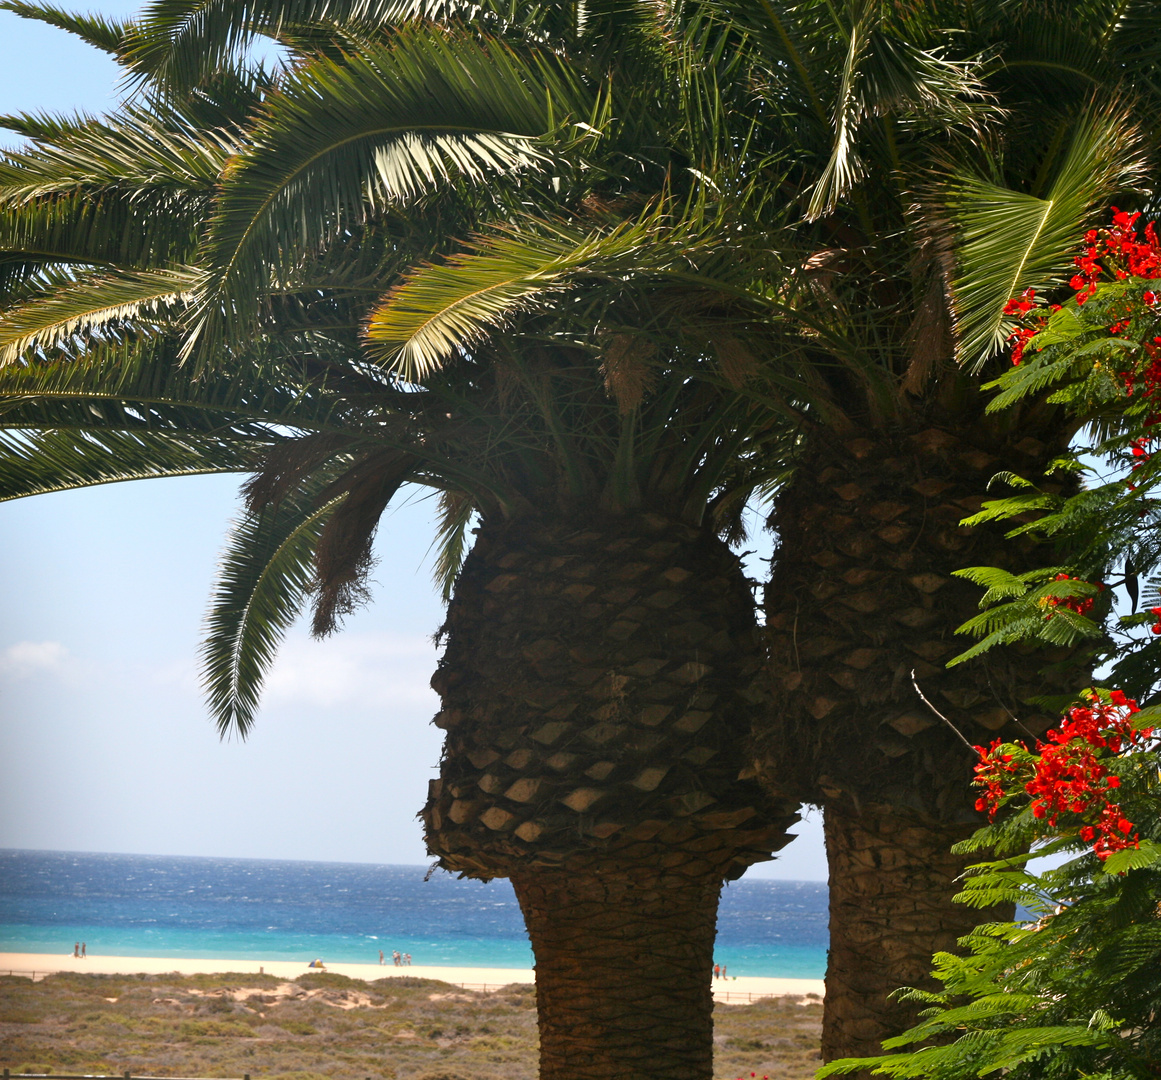
[[[323,957],[324,963],[326,957]],[[241,972],[258,974],[265,972],[280,979],[296,979],[313,969],[309,960],[224,960],[212,957],[146,957],[146,956],[89,956],[75,959],[72,953],[50,952],[0,952],[0,974],[34,975],[41,978],[58,971],[85,971],[93,974],[161,974],[175,971],[181,974],[214,974],[217,972]],[[536,977],[528,967],[434,967],[416,964],[396,967],[378,964],[326,964],[326,970],[352,979],[375,979],[413,975],[421,979],[440,979],[469,989],[495,989],[509,982],[535,982]],[[777,979],[759,975],[738,975],[714,981],[714,996],[723,1001],[745,1001],[760,996],[805,998],[823,994],[822,979]]]

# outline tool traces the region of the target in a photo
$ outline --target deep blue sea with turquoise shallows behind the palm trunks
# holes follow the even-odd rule
[[[0,850],[0,952],[529,967],[507,881],[424,866]],[[715,959],[731,975],[821,979],[827,886],[735,881]]]

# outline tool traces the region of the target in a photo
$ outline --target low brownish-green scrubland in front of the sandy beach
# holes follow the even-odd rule
[[[716,1080],[809,1080],[822,1005],[767,998],[714,1009]],[[0,1064],[252,1080],[535,1080],[531,985],[307,974],[0,977]]]

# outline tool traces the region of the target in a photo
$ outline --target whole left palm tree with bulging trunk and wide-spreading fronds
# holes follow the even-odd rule
[[[140,27],[49,14],[147,67]],[[642,42],[663,78],[619,123],[599,65],[585,81],[534,42],[418,26],[348,55],[296,33],[309,55],[273,87],[174,77],[108,120],[13,121],[33,145],[0,165],[0,495],[252,474],[204,649],[244,734],[296,612],[333,631],[394,495],[438,491],[428,844],[512,879],[545,1075],[708,1077],[722,881],[795,820],[738,778],[763,654],[719,535],[786,427],[736,393],[742,316],[702,283],[734,255],[712,185],[673,168],[677,70]],[[578,138],[596,149],[567,168]],[[529,267],[591,287],[535,304],[511,291]],[[505,333],[484,337],[490,297]]]

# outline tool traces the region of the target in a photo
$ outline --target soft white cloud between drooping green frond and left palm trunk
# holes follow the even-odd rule
[[[271,705],[438,707],[427,685],[437,663],[428,638],[404,634],[336,634],[326,641],[291,638],[271,671]]]

